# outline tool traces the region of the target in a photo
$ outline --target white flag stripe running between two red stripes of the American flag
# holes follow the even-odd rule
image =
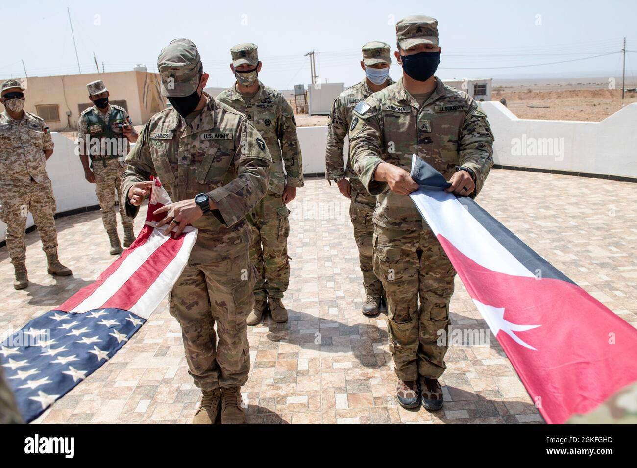
[[[131,278],[131,275],[135,273],[148,257],[150,257],[159,246],[168,241],[168,239],[170,239],[170,236],[164,236],[158,229],[154,229],[143,245],[129,254],[117,270],[111,273],[111,276],[106,278],[89,297],[80,302],[73,310],[69,310],[69,312],[84,313],[92,309],[101,308],[102,304],[108,301],[108,299]]]

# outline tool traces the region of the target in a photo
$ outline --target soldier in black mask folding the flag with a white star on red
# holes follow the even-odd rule
[[[389,315],[389,349],[399,378],[401,405],[439,409],[438,378],[446,346],[437,332],[449,324],[455,270],[407,195],[412,155],[438,169],[455,194],[475,197],[493,165],[487,118],[466,93],[434,76],[440,62],[438,22],[426,16],[396,24],[403,78],[354,109],[350,125],[352,166],[374,211],[374,272],[383,282]],[[419,307],[420,300],[420,307]]]

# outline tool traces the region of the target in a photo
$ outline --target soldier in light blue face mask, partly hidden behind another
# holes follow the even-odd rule
[[[380,311],[385,310],[382,299],[383,286],[374,274],[371,255],[374,234],[372,216],[376,208],[376,196],[369,194],[362,186],[352,170],[350,159],[347,159],[347,163],[343,161],[343,145],[352,123],[354,106],[367,99],[373,92],[394,84],[389,78],[389,66],[392,63],[389,52],[389,44],[384,42],[371,41],[362,46],[361,67],[365,70],[365,79],[338,95],[332,104],[327,122],[326,178],[330,184],[334,180],[341,194],[351,201],[350,218],[359,249],[362,284],[366,295],[362,313],[368,316],[378,315]]]

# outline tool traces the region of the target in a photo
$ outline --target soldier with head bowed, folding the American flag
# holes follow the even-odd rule
[[[175,39],[157,59],[162,96],[172,108],[155,114],[127,157],[122,204],[135,216],[158,176],[174,201],[157,225],[199,230],[169,308],[182,327],[189,372],[203,399],[194,423],[242,423],[240,386],[248,379],[246,318],[254,306],[255,272],[245,222],[268,189],[272,162],[259,132],[238,111],[203,88],[197,47]],[[218,342],[213,329],[217,323]]]

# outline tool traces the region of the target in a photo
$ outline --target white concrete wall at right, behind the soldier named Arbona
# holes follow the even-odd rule
[[[522,119],[496,101],[481,104],[496,164],[637,177],[637,103],[601,122]]]

